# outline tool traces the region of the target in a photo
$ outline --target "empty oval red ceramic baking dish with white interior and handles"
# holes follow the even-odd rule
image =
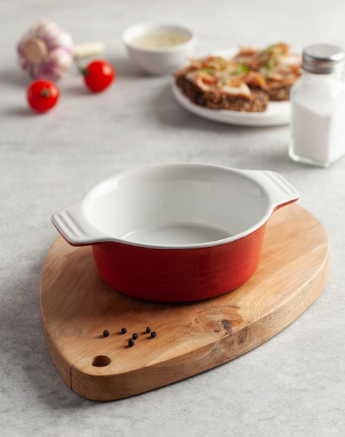
[[[100,276],[115,290],[186,302],[250,279],[268,218],[297,199],[275,172],[168,163],[109,178],[52,221],[72,246],[92,245]]]

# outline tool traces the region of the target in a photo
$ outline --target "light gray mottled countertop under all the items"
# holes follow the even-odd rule
[[[114,85],[90,94],[72,68],[59,82],[59,105],[33,114],[15,45],[40,17],[61,24],[76,43],[102,40]],[[140,75],[121,42],[131,24],[168,20],[197,30],[196,54],[280,40],[344,47],[344,17],[339,0],[312,7],[297,0],[1,0],[1,435],[345,435],[345,158],[326,170],[308,168],[288,157],[287,125],[219,124],[187,112],[171,78]],[[328,283],[300,318],[236,360],[130,399],[86,400],[63,382],[43,336],[40,275],[57,237],[50,218],[110,175],[171,161],[281,173],[328,231]]]

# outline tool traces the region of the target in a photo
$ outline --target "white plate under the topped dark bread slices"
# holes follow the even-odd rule
[[[222,57],[233,57],[237,49],[217,50],[215,55]],[[244,126],[277,126],[279,124],[289,124],[291,117],[291,103],[288,102],[270,102],[265,112],[240,112],[229,110],[213,110],[195,105],[187,98],[181,89],[176,85],[176,81],[171,82],[173,94],[181,103],[183,108],[194,114],[206,119],[220,121],[227,124],[240,124]]]

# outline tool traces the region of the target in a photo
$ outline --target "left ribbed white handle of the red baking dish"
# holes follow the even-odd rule
[[[55,212],[52,215],[55,228],[72,246],[109,241],[109,235],[103,234],[89,222],[83,208],[83,202],[79,202]]]

